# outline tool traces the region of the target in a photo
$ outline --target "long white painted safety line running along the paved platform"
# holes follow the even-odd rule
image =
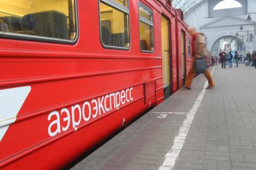
[[[213,68],[211,74],[213,73],[214,70],[215,70],[215,67]],[[171,150],[169,150],[168,153],[166,153],[165,161],[163,162],[162,166],[159,167],[159,170],[167,170],[167,169],[174,168],[178,155],[180,154],[180,151],[183,148],[184,143],[186,142],[187,133],[189,132],[189,129],[194,120],[195,114],[197,113],[198,108],[201,105],[204,94],[206,93],[207,84],[208,83],[206,81],[206,83],[204,84],[203,90],[200,92],[200,94],[197,97],[197,100],[195,101],[195,105],[187,113],[186,119],[183,121],[182,126],[180,127],[180,130],[178,130],[178,136],[175,136],[174,144],[172,145]]]

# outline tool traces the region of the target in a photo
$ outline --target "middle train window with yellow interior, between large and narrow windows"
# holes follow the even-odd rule
[[[126,0],[100,1],[100,31],[105,47],[130,47],[129,9],[127,6]]]

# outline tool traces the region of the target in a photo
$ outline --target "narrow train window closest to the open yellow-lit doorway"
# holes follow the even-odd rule
[[[139,4],[139,39],[142,51],[154,51],[154,23],[150,8]]]

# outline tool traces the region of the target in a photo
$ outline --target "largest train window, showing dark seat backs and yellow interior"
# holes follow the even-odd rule
[[[0,33],[75,40],[75,0],[0,0]]]

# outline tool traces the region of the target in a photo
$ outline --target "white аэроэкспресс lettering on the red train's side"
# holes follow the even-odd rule
[[[108,114],[112,110],[119,110],[121,105],[133,101],[132,90],[133,87],[91,101],[85,101],[72,107],[62,108],[59,111],[52,111],[47,119],[50,121],[48,134],[55,136],[68,130],[71,126],[76,129],[81,123],[90,122],[90,120],[96,119],[102,114]]]

